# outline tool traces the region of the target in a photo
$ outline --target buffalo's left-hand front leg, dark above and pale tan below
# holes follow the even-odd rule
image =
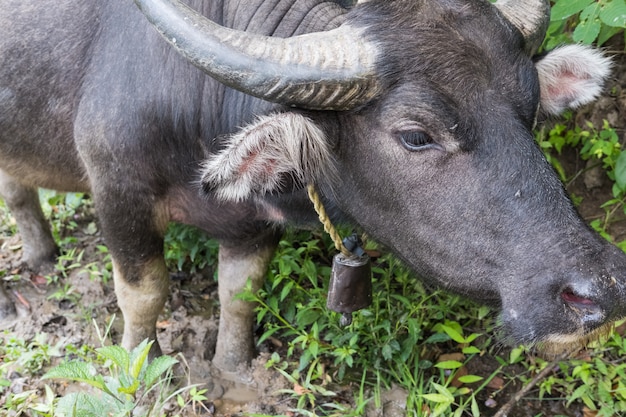
[[[169,293],[163,259],[167,217],[149,193],[133,183],[108,181],[93,187],[102,232],[113,260],[113,282],[124,317],[122,346],[132,349],[154,340],[151,356],[161,353],[156,322]]]

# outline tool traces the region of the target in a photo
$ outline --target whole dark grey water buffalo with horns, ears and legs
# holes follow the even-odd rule
[[[538,112],[589,102],[610,66],[581,46],[533,57],[546,0],[135,2],[0,10],[0,192],[24,261],[56,253],[36,187],[90,192],[124,346],[156,337],[178,221],[220,243],[214,364],[249,361],[233,295],[261,284],[283,225],[317,224],[308,184],[426,282],[498,306],[507,341],[560,349],[624,315],[626,256],[533,141]]]

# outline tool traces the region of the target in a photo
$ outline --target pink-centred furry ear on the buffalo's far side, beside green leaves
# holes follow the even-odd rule
[[[541,108],[559,114],[593,101],[611,71],[611,60],[590,46],[566,45],[536,64],[541,84]]]

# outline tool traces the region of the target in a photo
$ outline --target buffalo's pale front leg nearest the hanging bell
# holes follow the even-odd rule
[[[254,357],[254,305],[234,296],[243,290],[248,279],[255,291],[261,287],[275,248],[275,236],[254,245],[254,249],[220,244],[220,324],[213,357],[213,364],[219,369],[234,371]]]

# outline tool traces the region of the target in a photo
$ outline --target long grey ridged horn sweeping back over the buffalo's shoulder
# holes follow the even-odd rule
[[[179,0],[135,3],[187,60],[244,93],[312,110],[349,110],[380,91],[376,48],[347,25],[275,38],[225,28]]]

